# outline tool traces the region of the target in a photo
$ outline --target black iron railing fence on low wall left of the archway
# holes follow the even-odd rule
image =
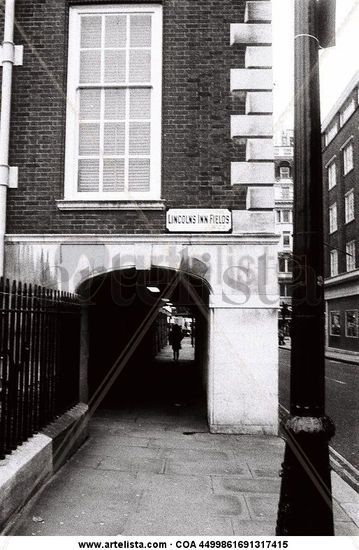
[[[81,306],[0,279],[0,459],[78,403]]]

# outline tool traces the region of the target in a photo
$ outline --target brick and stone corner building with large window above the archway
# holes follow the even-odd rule
[[[270,1],[16,1],[5,275],[97,292],[90,363],[109,310],[140,325],[133,281],[185,275],[213,431],[277,429],[270,21]]]

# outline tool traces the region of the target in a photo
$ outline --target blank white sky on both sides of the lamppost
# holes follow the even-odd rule
[[[274,134],[293,128],[294,0],[272,0]],[[359,70],[359,0],[337,0],[337,43],[320,55],[322,119]]]

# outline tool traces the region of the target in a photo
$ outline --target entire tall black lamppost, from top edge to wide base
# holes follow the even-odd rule
[[[328,2],[331,0],[328,0]],[[323,4],[323,0],[321,1]],[[295,0],[295,133],[290,417],[277,535],[333,535],[325,416],[322,156],[317,0]]]

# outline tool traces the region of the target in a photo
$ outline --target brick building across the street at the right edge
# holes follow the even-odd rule
[[[329,352],[359,356],[359,73],[323,122]]]

